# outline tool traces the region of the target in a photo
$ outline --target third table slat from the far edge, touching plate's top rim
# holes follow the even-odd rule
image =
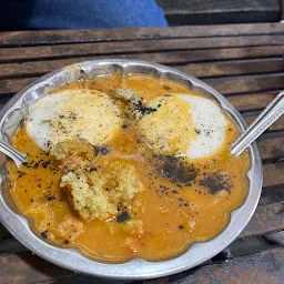
[[[1,50],[0,50],[1,51]],[[232,60],[232,59],[253,59],[283,55],[284,45],[280,47],[258,47],[258,48],[232,48],[232,49],[212,49],[193,51],[173,51],[173,52],[150,52],[142,54],[119,54],[119,55],[97,55],[71,58],[61,60],[48,60],[22,63],[4,63],[0,68],[0,79],[18,77],[38,77],[51,72],[59,68],[77,62],[100,59],[138,59],[152,61],[163,64],[193,63],[202,61]],[[183,68],[183,67],[182,67]],[[276,68],[276,67],[275,67]],[[233,69],[232,69],[233,70]]]

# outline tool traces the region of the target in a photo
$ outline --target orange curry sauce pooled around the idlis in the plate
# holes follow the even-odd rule
[[[175,82],[145,75],[100,77],[89,81],[81,80],[67,88],[90,88],[103,92],[129,88],[145,102],[164,93],[205,97]],[[239,158],[230,155],[230,143],[237,138],[239,131],[229,118],[227,120],[222,150],[206,159],[190,161],[190,166],[197,174],[187,183],[180,182],[179,176],[161,176],[161,171],[169,171],[170,175],[171,171],[176,171],[179,175],[184,174],[184,169],[179,169],[170,158],[165,158],[163,165],[156,165],[151,160],[151,150],[138,138],[133,126],[122,126],[120,135],[108,142],[111,152],[99,159],[118,159],[123,166],[123,159],[115,152],[133,156],[128,163],[135,166],[146,187],[139,196],[142,205],[135,215],[135,219],[143,222],[143,232],[139,235],[125,232],[123,222],[118,222],[115,216],[108,221],[80,220],[59,186],[57,161],[37,146],[24,124],[16,133],[12,143],[21,152],[28,153],[29,164],[32,166],[22,165],[17,169],[13,162],[8,163],[12,196],[22,214],[33,221],[34,231],[40,237],[62,246],[79,247],[91,257],[123,262],[135,256],[146,260],[176,256],[192,243],[216,236],[227,225],[230,213],[246,196],[248,154],[243,153]],[[75,239],[68,240],[62,233],[62,230],[72,230],[68,224],[60,225],[68,215],[81,224],[81,233]]]

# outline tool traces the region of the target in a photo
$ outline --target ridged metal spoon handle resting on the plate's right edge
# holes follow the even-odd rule
[[[253,143],[272,123],[284,113],[284,91],[265,108],[257,119],[236,139],[232,145],[231,153],[240,155],[251,143]]]

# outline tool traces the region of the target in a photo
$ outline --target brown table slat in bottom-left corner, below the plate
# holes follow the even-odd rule
[[[0,266],[2,284],[52,283],[74,275],[74,272],[43,261],[31,252],[0,254]]]

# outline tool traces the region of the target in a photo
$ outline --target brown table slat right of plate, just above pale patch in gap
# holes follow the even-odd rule
[[[240,237],[263,235],[284,230],[284,202],[261,205]]]

